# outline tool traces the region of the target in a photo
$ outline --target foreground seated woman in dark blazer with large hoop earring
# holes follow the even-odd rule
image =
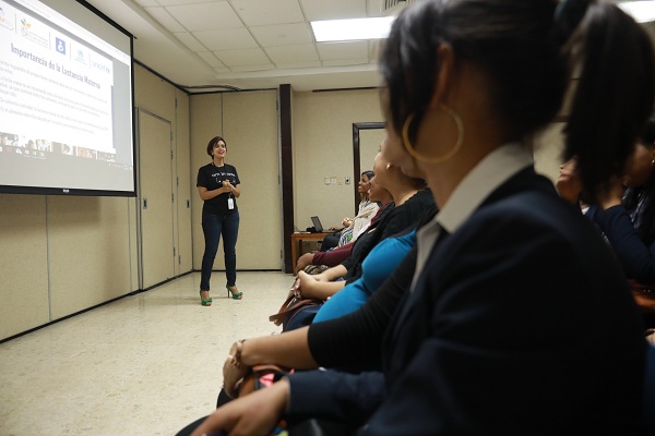
[[[359,311],[264,343],[294,358],[282,364],[310,370],[352,365],[368,340],[383,370],[296,372],[223,405],[192,434],[266,435],[281,416],[346,422],[361,436],[643,432],[646,349],[623,274],[522,146],[559,112],[574,56],[567,155],[579,157],[596,198],[653,108],[653,48],[634,20],[575,0],[404,9],[380,60],[385,158],[425,178],[440,211]],[[389,291],[398,270],[414,271],[409,287]],[[400,306],[373,313],[373,330],[342,329],[391,295]],[[315,331],[341,335],[338,352],[314,349]],[[227,366],[269,363],[250,348],[262,340],[237,342]]]

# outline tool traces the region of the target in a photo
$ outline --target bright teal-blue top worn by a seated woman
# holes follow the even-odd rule
[[[361,264],[361,277],[332,295],[321,306],[313,323],[338,318],[359,308],[391,276],[415,244],[416,230],[380,241]]]

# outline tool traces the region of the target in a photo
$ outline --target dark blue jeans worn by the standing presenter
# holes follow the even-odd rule
[[[205,252],[202,256],[200,289],[210,290],[210,278],[214,267],[214,258],[218,251],[218,242],[223,234],[223,253],[225,253],[225,276],[227,286],[237,283],[237,237],[239,235],[239,213],[230,215],[202,214],[202,232],[205,237]]]

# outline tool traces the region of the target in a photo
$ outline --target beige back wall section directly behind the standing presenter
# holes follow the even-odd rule
[[[226,162],[237,167],[241,180],[237,268],[281,269],[277,92],[211,94],[191,96],[190,100],[193,268],[201,269],[204,251],[203,202],[195,179],[198,169],[211,162],[209,141],[222,135],[227,142]],[[223,245],[214,269],[225,268],[222,253]]]

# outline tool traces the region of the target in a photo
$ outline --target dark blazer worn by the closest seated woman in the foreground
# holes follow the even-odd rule
[[[641,425],[645,343],[626,279],[588,220],[532,168],[440,237],[383,347],[388,396],[366,434]]]

